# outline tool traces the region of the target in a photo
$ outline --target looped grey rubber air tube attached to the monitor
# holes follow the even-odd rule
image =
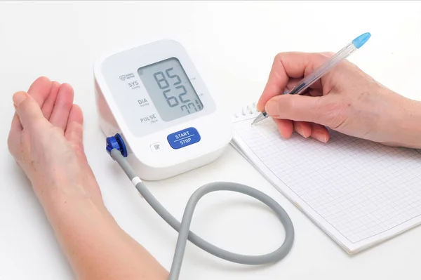
[[[199,189],[197,189],[192,194],[192,196],[190,196],[190,199],[187,202],[187,206],[185,208],[184,215],[182,217],[182,222],[180,223],[173,217],[173,215],[171,215],[171,213],[166,210],[166,208],[163,208],[159,201],[152,195],[151,192],[149,192],[149,189],[147,189],[142,180],[140,180],[140,178],[135,174],[131,166],[126,161],[126,158],[118,149],[112,149],[110,154],[112,158],[119,163],[128,178],[135,185],[136,189],[138,189],[138,192],[140,192],[140,194],[154,209],[154,211],[156,211],[156,213],[158,213],[161,218],[163,218],[163,220],[168,223],[168,225],[178,231],[178,240],[177,245],[175,246],[173,263],[171,265],[170,276],[168,278],[169,280],[178,280],[187,240],[218,258],[243,265],[263,265],[271,262],[278,262],[279,260],[283,259],[292,248],[294,241],[294,227],[288,214],[276,201],[274,201],[274,199],[267,196],[267,194],[260,192],[258,189],[253,189],[252,187],[234,182],[213,182],[207,185],[203,185],[202,187],[199,187]],[[216,191],[239,192],[241,194],[246,194],[255,199],[258,199],[262,203],[269,206],[269,208],[271,208],[272,211],[276,213],[279,220],[283,224],[283,228],[285,229],[286,234],[283,244],[272,253],[267,253],[265,255],[241,255],[225,251],[222,248],[218,248],[217,246],[201,239],[201,237],[197,236],[193,232],[190,232],[189,227],[192,222],[192,216],[196,204],[204,195]]]

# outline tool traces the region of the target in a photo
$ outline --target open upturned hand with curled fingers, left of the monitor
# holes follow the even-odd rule
[[[73,100],[72,86],[46,77],[36,79],[27,93],[13,95],[8,147],[40,199],[51,189],[55,195],[100,199],[83,152],[83,114]]]

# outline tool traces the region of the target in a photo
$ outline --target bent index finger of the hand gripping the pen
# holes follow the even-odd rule
[[[269,73],[269,78],[262,96],[258,101],[258,109],[265,109],[266,102],[285,91],[290,78],[301,78],[313,72],[328,59],[321,53],[279,53],[276,55]],[[321,88],[321,80],[316,81],[312,88]]]

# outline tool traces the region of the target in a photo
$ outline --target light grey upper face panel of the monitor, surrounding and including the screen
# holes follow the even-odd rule
[[[192,61],[174,41],[110,55],[101,71],[133,135],[150,135],[216,110]]]

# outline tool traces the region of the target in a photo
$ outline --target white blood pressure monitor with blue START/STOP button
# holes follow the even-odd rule
[[[185,48],[172,40],[116,51],[94,65],[100,128],[121,135],[144,180],[161,180],[218,159],[231,116],[215,102]]]

